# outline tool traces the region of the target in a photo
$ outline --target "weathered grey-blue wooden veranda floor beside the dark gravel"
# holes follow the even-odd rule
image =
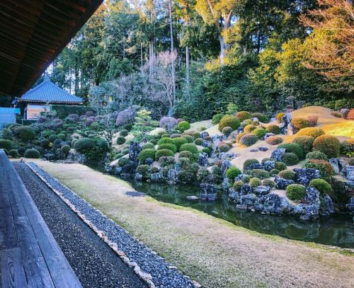
[[[26,284],[21,282],[21,287],[81,287],[16,169],[2,150],[0,203],[0,287],[20,287],[16,285],[23,278],[20,274],[13,274],[14,267],[16,273],[23,271],[25,274]],[[6,265],[11,265],[12,274],[6,270]]]

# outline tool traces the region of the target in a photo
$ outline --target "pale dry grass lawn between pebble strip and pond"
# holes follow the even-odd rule
[[[128,197],[129,184],[79,164],[35,161],[204,287],[354,287],[354,257]]]

